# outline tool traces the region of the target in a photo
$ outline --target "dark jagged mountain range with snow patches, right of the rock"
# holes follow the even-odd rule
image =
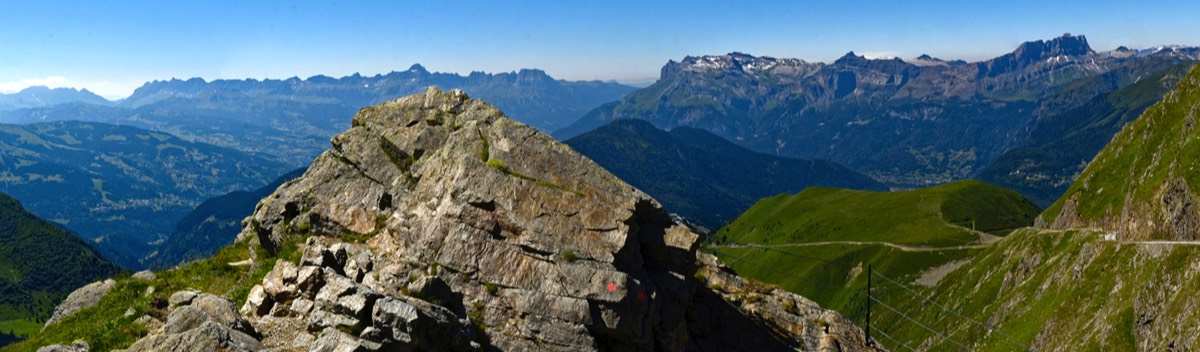
[[[853,53],[832,64],[742,53],[688,56],[667,62],[655,84],[589,112],[556,137],[644,119],[662,129],[707,130],[762,153],[830,160],[913,187],[971,178],[1025,145],[1040,120],[1196,60],[1200,49],[1182,47],[1097,53],[1072,35],[1026,42],[980,62]]]

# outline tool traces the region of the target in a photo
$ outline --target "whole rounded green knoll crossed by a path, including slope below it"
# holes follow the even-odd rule
[[[932,285],[1037,214],[1016,192],[977,180],[895,192],[812,187],[760,201],[714,233],[707,250],[744,276],[853,318],[864,305],[866,264]]]

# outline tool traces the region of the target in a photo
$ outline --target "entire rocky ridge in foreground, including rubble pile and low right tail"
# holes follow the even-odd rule
[[[462,91],[364,108],[331,142],[244,221],[234,245],[270,270],[238,316],[172,297],[130,351],[872,350],[848,320],[737,276],[656,201]],[[302,255],[266,259],[288,251]]]

